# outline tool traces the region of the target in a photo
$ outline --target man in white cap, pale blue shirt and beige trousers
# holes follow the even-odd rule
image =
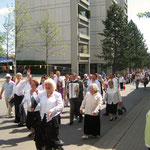
[[[2,94],[5,91],[5,102],[6,102],[6,106],[8,109],[7,117],[10,118],[12,117],[12,108],[9,104],[9,101],[13,94],[14,82],[11,81],[10,74],[6,74],[5,78],[6,78],[6,81],[2,85],[2,90],[0,92],[0,99],[2,99]]]

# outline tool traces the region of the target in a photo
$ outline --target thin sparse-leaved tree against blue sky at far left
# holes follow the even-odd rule
[[[7,59],[10,55],[14,53],[14,17],[12,14],[12,8],[9,8],[9,13],[7,16],[5,16],[5,21],[3,24],[4,27],[4,45],[6,47],[5,53],[7,56]],[[9,71],[7,63],[7,71]]]

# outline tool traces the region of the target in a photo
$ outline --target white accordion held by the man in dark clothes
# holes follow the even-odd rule
[[[69,83],[69,98],[79,97],[79,83]]]

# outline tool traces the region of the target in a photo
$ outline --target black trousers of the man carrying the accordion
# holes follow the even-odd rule
[[[82,115],[80,114],[80,106],[82,102],[78,101],[77,98],[70,99],[70,122],[73,122],[74,116],[79,116],[82,120]]]

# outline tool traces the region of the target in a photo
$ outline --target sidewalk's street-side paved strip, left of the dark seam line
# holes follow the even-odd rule
[[[88,150],[114,150],[147,105],[147,99],[149,99],[149,97],[150,94],[145,96],[141,102],[137,104],[135,108],[127,114],[127,116],[125,116],[125,118],[123,118]]]

